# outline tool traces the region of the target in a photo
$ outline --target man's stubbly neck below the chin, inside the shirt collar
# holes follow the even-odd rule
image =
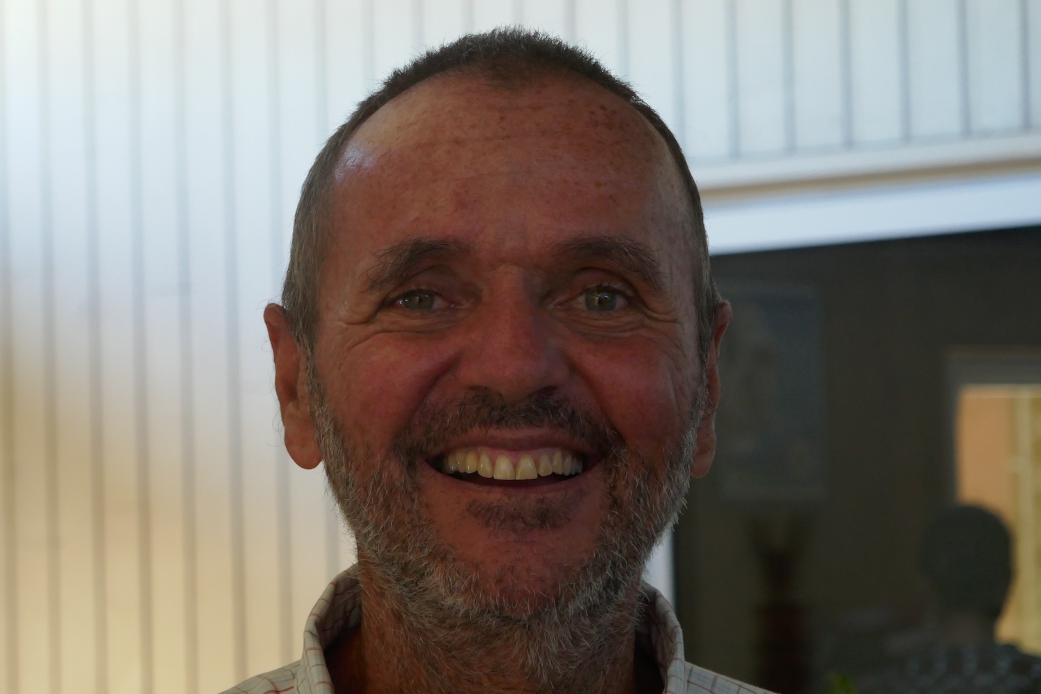
[[[404,603],[381,589],[378,574],[359,568],[361,624],[326,653],[337,692],[661,691],[657,667],[636,647],[638,585],[629,609],[596,625],[535,617],[502,619],[489,629]]]

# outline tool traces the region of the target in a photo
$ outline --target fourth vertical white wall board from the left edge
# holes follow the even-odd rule
[[[151,682],[144,691],[174,694],[191,691],[188,590],[185,585],[185,445],[182,389],[182,339],[179,308],[177,83],[180,6],[175,0],[138,14],[141,55],[139,160],[141,274],[145,297],[144,352],[149,463],[147,490],[151,528]],[[194,606],[191,608],[194,610]],[[191,683],[191,686],[189,686]]]

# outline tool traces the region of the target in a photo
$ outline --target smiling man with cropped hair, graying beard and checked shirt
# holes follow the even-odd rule
[[[760,691],[685,663],[640,581],[712,462],[730,308],[626,84],[519,30],[396,72],[307,177],[283,304],[285,444],[358,563],[231,691]]]

